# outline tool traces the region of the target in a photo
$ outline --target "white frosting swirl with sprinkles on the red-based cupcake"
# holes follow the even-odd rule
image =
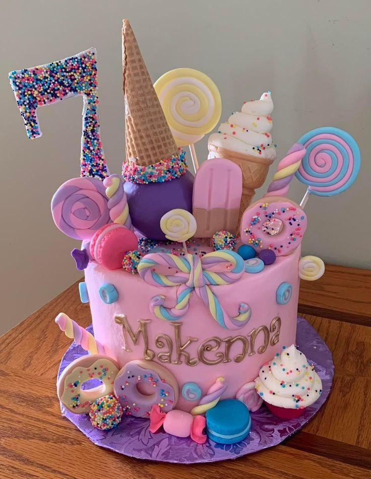
[[[310,406],[322,394],[321,378],[294,345],[260,368],[255,387],[266,402],[286,409]]]

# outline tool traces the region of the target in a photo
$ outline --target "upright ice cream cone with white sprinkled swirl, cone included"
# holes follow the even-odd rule
[[[269,167],[276,159],[276,149],[270,133],[273,101],[271,92],[260,100],[244,102],[241,111],[234,112],[218,132],[209,137],[209,158],[227,158],[242,170],[242,213],[251,203],[256,188],[264,183]]]

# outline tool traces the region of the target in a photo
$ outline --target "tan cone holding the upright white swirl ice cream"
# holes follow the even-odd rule
[[[251,203],[256,188],[260,188],[263,185],[267,178],[269,167],[274,160],[252,155],[243,155],[210,143],[208,148],[215,158],[226,158],[227,160],[233,161],[233,163],[238,165],[242,170],[242,197],[237,223],[240,225],[243,212]]]

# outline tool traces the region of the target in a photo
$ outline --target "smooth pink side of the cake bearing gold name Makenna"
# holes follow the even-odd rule
[[[244,383],[256,378],[260,366],[273,353],[295,343],[299,258],[297,248],[259,273],[244,273],[234,284],[212,287],[229,315],[236,314],[241,301],[249,304],[251,318],[238,330],[221,327],[195,293],[180,320],[158,319],[149,308],[152,298],[165,296],[164,306],[171,308],[176,303],[176,288],[148,285],[137,275],[90,262],[85,282],[95,338],[120,366],[132,360],[152,360],[174,375],[179,390],[192,382],[203,394],[222,376],[228,383],[223,397],[234,397]],[[292,286],[287,304],[277,303],[282,283]],[[114,286],[118,293],[115,302],[106,304],[101,299],[99,288],[103,284]],[[115,322],[117,315],[122,317]],[[176,407],[188,412],[195,404],[180,396]]]

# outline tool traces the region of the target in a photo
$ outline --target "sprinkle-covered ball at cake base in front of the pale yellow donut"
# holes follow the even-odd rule
[[[96,399],[90,407],[90,422],[97,429],[108,431],[121,422],[122,406],[113,394]]]

